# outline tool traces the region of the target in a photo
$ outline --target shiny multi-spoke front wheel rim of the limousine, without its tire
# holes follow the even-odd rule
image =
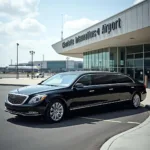
[[[50,108],[50,117],[53,121],[59,121],[64,115],[64,107],[61,103],[56,102]]]

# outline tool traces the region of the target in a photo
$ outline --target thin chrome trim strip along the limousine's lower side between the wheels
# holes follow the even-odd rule
[[[96,106],[101,106],[101,105],[108,105],[108,104],[113,104],[113,103],[120,103],[120,102],[125,102],[125,101],[130,101],[130,100],[120,100],[120,101],[108,102],[108,103],[96,103],[96,104],[90,104],[90,105],[84,105],[84,106],[70,108],[70,110],[77,110],[77,109],[82,109],[82,108],[90,108],[90,107],[96,107]]]

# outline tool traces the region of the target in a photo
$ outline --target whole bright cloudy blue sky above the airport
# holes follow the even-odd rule
[[[52,44],[143,0],[0,0],[0,67],[31,60],[65,60]],[[62,17],[63,16],[63,17]],[[63,18],[63,21],[62,21]],[[63,23],[62,23],[63,22]],[[71,60],[81,60],[70,58]]]

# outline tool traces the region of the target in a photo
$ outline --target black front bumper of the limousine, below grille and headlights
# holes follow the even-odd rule
[[[20,116],[41,116],[44,115],[45,107],[43,106],[15,106],[5,103],[5,111]]]

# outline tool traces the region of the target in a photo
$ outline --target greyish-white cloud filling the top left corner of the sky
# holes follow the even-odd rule
[[[38,14],[40,0],[0,0],[0,15],[34,17]]]

